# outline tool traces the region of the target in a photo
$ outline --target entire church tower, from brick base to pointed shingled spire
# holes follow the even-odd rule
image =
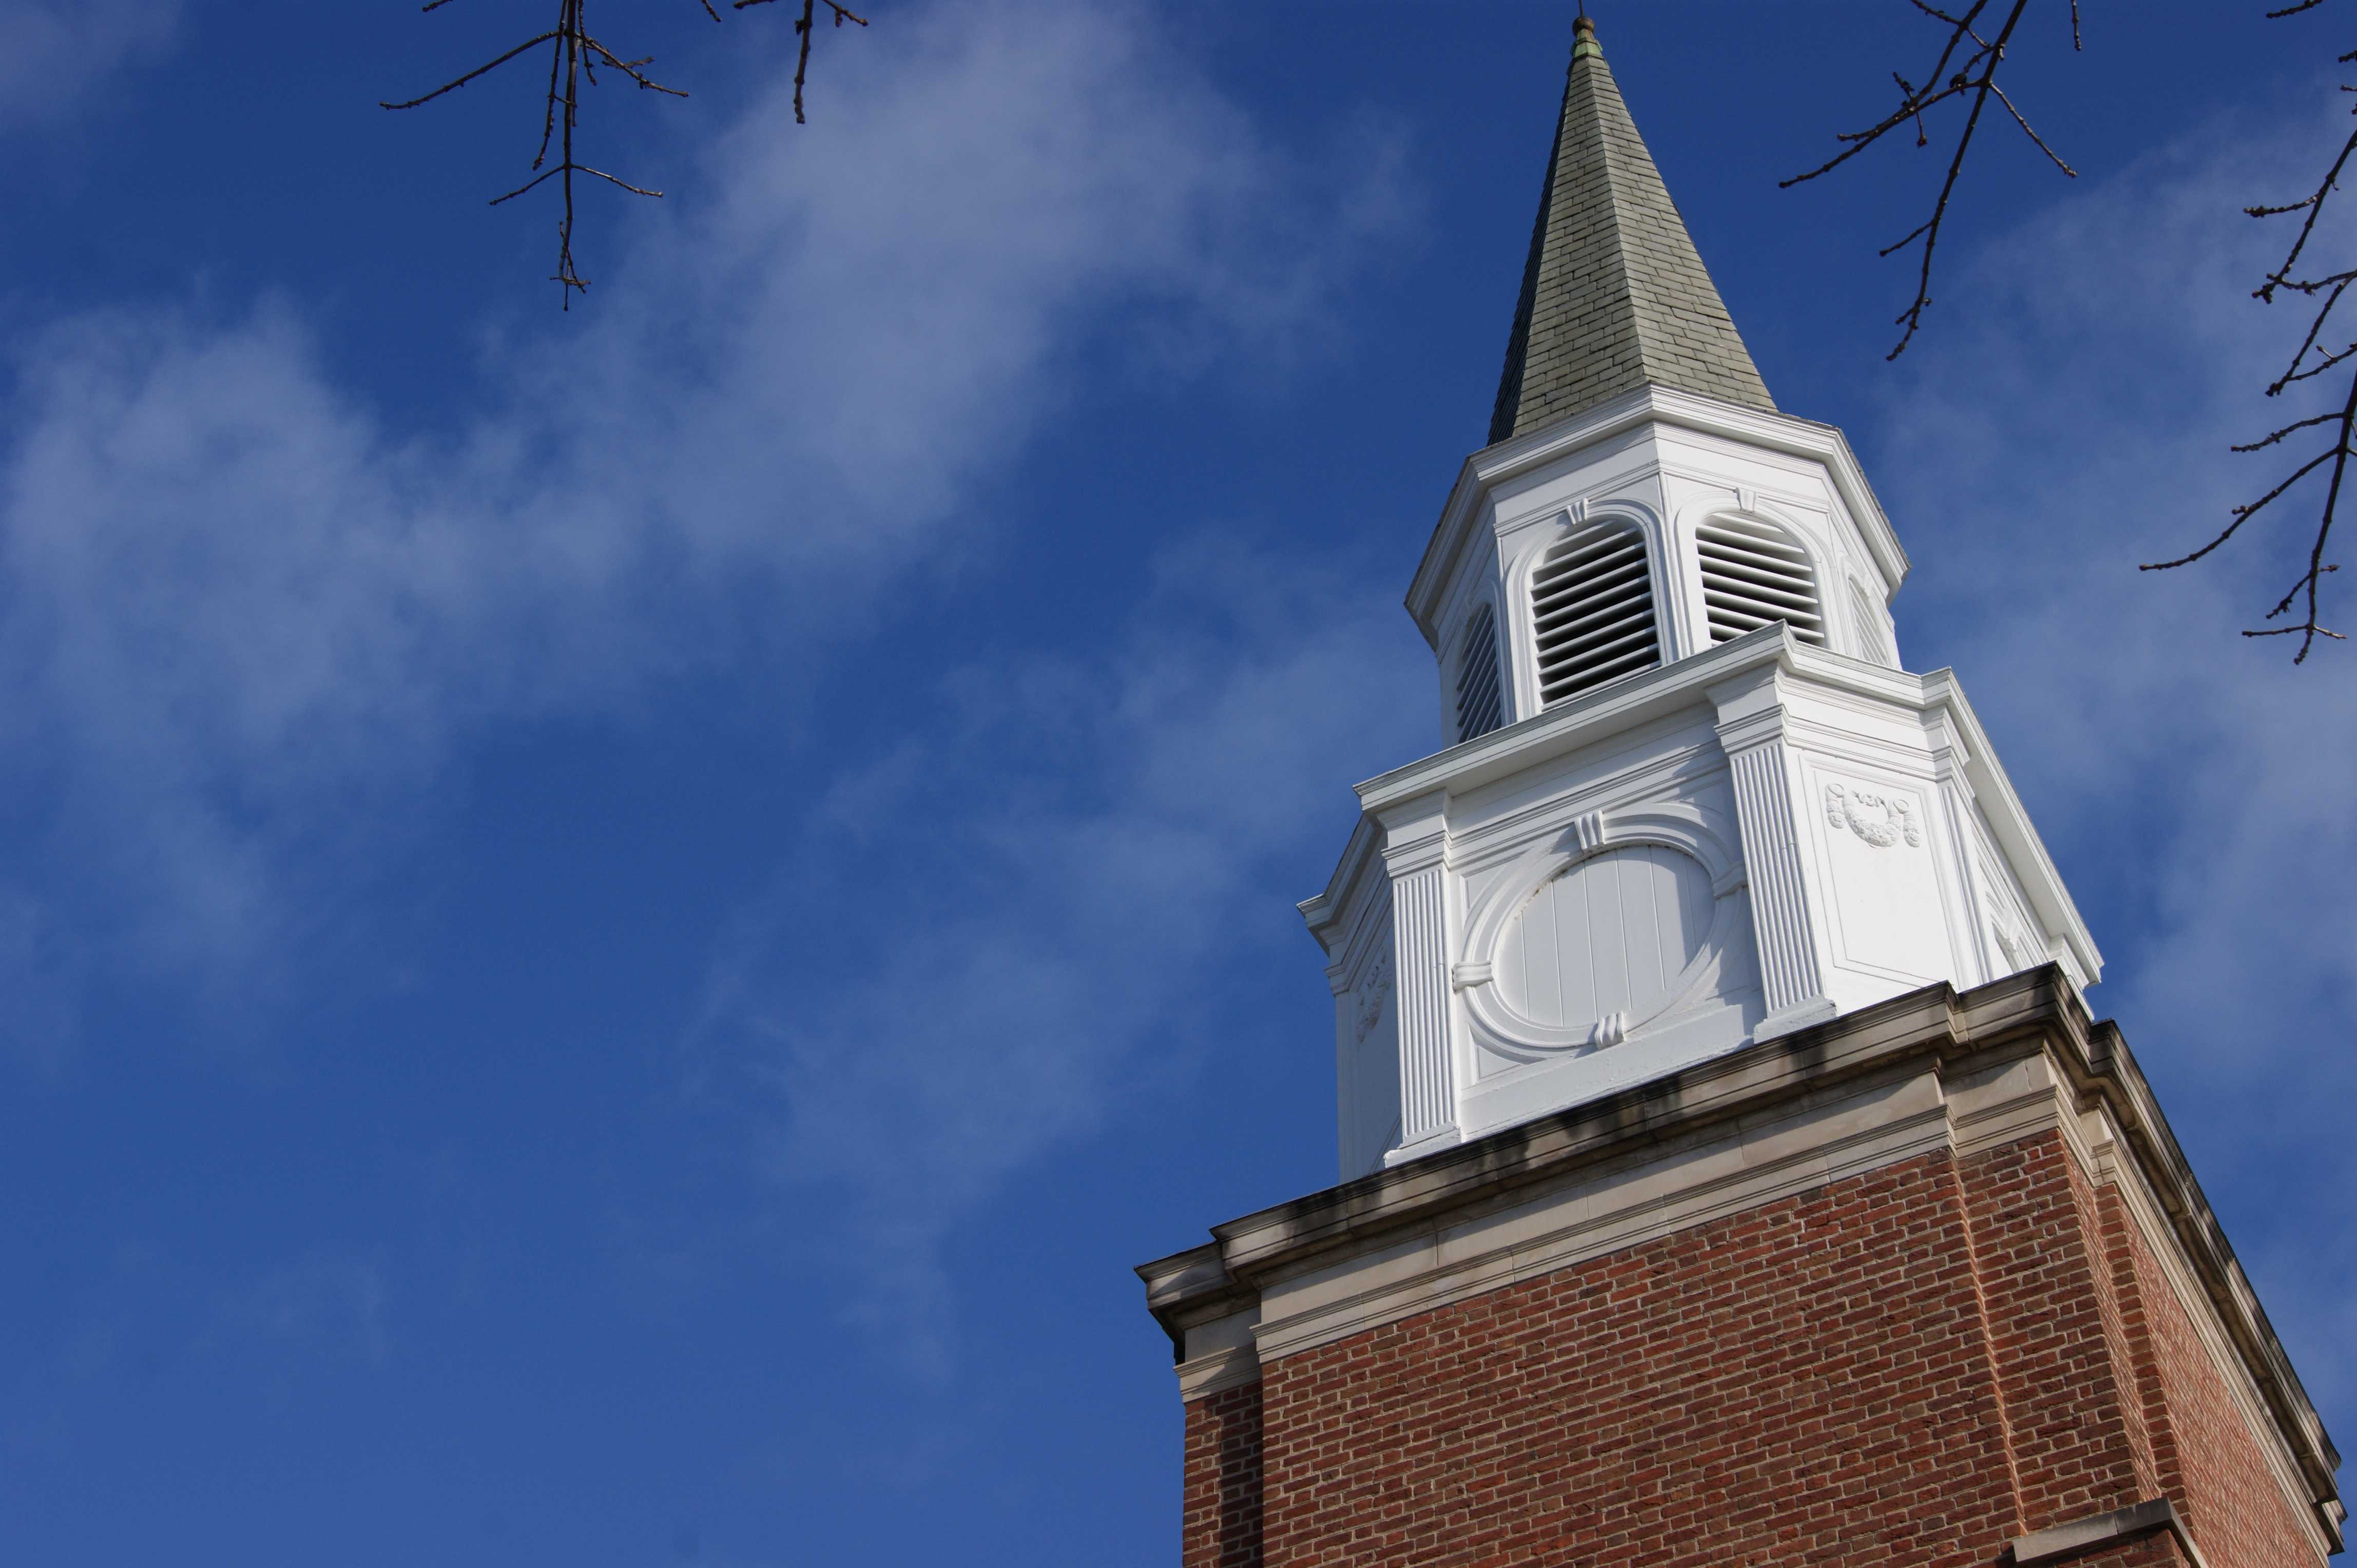
[[[2326,1439],[1841,431],[1777,410],[1582,16],[1454,744],[1301,904],[1341,1184],[1146,1264],[1186,1568],[2341,1549]]]

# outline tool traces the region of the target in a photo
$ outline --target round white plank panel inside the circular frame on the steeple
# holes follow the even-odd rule
[[[1499,1001],[1534,1024],[1640,1024],[1673,998],[1711,930],[1711,876],[1692,855],[1629,845],[1539,888],[1499,932]]]

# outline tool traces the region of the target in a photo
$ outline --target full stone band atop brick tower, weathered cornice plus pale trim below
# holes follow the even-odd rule
[[[2086,1123],[2095,1111],[2100,1144]],[[2194,1318],[2211,1323],[2256,1394],[2246,1417],[2263,1415],[2256,1431],[2275,1434],[2300,1514],[2338,1552],[2341,1457],[2133,1055],[2114,1026],[2088,1022],[2058,965],[1966,994],[1926,986],[1749,1045],[1233,1220],[1214,1227],[1211,1245],[1138,1274],[1181,1358],[1195,1358],[1188,1326],[1249,1307],[1266,1366],[1784,1191],[2041,1130],[2060,1132],[2091,1172],[2112,1161],[2119,1191],[2147,1189],[2150,1203],[2131,1212],[2152,1212],[2152,1250],[2192,1281]],[[1242,1366],[1221,1366],[1202,1377],[1242,1377]]]

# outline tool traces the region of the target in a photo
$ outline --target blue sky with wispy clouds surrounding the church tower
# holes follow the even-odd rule
[[[1176,1561],[1129,1264],[1332,1180],[1292,902],[1438,744],[1560,5],[0,0],[0,1516],[130,1563]],[[1780,403],[1848,428],[2326,1422],[2357,1429],[2350,655],[2234,629],[2322,21],[2025,52],[1883,365],[1895,0],[1600,5]],[[528,16],[530,14],[530,16]],[[641,49],[641,52],[643,52]],[[1904,49],[1904,52],[1902,52]]]

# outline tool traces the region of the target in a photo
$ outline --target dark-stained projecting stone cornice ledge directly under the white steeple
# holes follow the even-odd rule
[[[1214,1241],[1143,1264],[1148,1309],[1186,1354],[1188,1328],[1256,1309],[1280,1285],[1351,1255],[1367,1255],[1447,1217],[1494,1205],[1541,1182],[1577,1180],[1650,1147],[1690,1144],[1711,1128],[1772,1121],[1846,1083],[1928,1067],[1985,1071],[2008,1057],[2044,1057],[2081,1109],[2102,1107],[2119,1142],[2166,1210],[2183,1260],[2258,1387],[2275,1431],[2338,1549],[2343,1509],[2331,1439],[2267,1323],[2218,1217],[2201,1194],[2152,1088],[2112,1024],[2091,1022],[2058,965],[1966,994],[1926,986],[1827,1024],[1801,1029],[1669,1074],[1619,1095],[1219,1224]]]

